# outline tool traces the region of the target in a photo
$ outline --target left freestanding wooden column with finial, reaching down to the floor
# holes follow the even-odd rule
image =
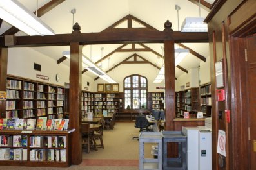
[[[80,27],[80,26],[79,26]],[[74,27],[73,27],[74,29]],[[74,37],[80,31],[72,32]],[[81,137],[81,81],[82,81],[82,46],[79,42],[70,43],[70,127],[75,128],[71,141],[71,162],[78,165],[82,162],[82,137]]]

